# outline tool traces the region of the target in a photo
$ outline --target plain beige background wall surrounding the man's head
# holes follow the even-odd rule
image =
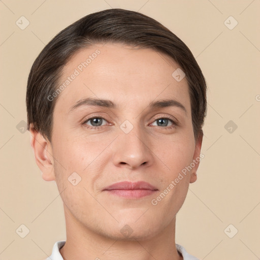
[[[26,81],[32,62],[61,29],[108,8],[140,11],[163,23],[187,44],[208,82],[205,158],[177,214],[176,243],[200,259],[259,259],[260,1],[3,0],[0,260],[44,259],[66,239],[56,184],[41,178],[29,133],[21,133]],[[29,21],[23,30],[16,25],[21,16]],[[230,16],[238,22],[233,29]],[[29,230],[24,238],[16,233],[21,224]]]

